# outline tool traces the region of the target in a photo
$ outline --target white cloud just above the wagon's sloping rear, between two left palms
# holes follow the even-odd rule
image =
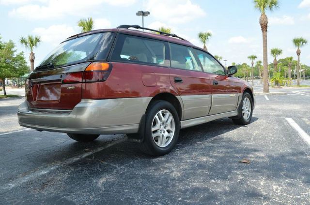
[[[78,33],[73,27],[62,25],[52,25],[48,28],[35,28],[32,32],[41,36],[43,43],[49,43],[53,46],[60,44],[66,38]]]

